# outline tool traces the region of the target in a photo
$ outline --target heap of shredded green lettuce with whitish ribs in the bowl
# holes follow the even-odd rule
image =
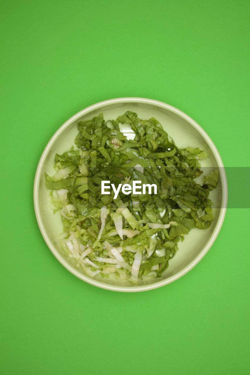
[[[121,130],[128,124],[134,139]],[[105,122],[102,113],[78,123],[75,146],[56,154],[56,174],[45,173],[52,208],[60,210],[62,248],[88,276],[139,279],[160,277],[190,229],[208,228],[214,219],[209,192],[218,171],[203,172],[199,148],[178,148],[155,119],[127,111]],[[157,186],[157,194],[102,194],[102,181],[113,186],[133,181]],[[113,275],[113,276],[111,276]],[[132,284],[131,284],[132,285]]]

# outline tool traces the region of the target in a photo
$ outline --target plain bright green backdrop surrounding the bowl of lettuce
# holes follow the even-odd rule
[[[249,374],[249,210],[227,210],[183,278],[126,294],[63,268],[39,232],[32,191],[58,127],[123,96],[174,105],[224,165],[250,166],[249,5],[2,2],[2,374]]]

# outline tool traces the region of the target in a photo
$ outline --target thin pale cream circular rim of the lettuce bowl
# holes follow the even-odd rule
[[[154,284],[148,284],[148,285],[142,285],[142,286],[131,286],[131,287],[123,287],[118,285],[109,285],[105,284],[104,282],[97,281],[95,279],[90,278],[87,275],[83,275],[80,273],[74,266],[66,263],[63,256],[59,254],[59,252],[56,250],[56,247],[51,242],[44,224],[42,222],[41,217],[41,211],[39,207],[39,182],[41,178],[41,171],[44,166],[45,159],[48,155],[48,152],[50,151],[51,146],[54,144],[56,139],[60,136],[60,134],[63,132],[63,130],[66,129],[73,121],[77,120],[79,117],[83,116],[84,114],[87,114],[91,112],[92,110],[96,110],[99,107],[103,107],[105,105],[110,104],[119,104],[119,103],[142,103],[142,104],[150,104],[154,105],[156,107],[164,108],[172,113],[175,113],[179,115],[180,117],[184,118],[188,123],[190,123],[199,133],[200,135],[206,140],[206,142],[209,144],[213,156],[215,157],[215,160],[217,162],[218,167],[220,168],[220,178],[221,178],[221,207],[219,217],[217,220],[217,224],[209,238],[209,241],[206,243],[206,245],[203,247],[202,251],[197,255],[196,258],[194,258],[186,267],[184,267],[179,272],[175,273],[172,276],[169,276],[168,278],[164,280],[160,280],[158,282],[155,282]],[[181,278],[181,276],[185,275],[188,271],[190,271],[194,266],[196,266],[197,263],[205,256],[205,254],[209,251],[211,246],[213,245],[215,239],[218,236],[218,233],[220,232],[221,226],[224,221],[224,217],[226,215],[226,207],[227,207],[227,179],[226,179],[226,172],[224,169],[223,162],[221,160],[221,156],[215,147],[214,142],[209,137],[209,135],[205,132],[205,130],[202,129],[202,127],[194,121],[190,116],[179,110],[178,108],[173,107],[170,104],[166,104],[164,102],[157,101],[155,99],[148,99],[148,98],[137,98],[137,97],[126,97],[126,98],[115,98],[115,99],[108,99],[102,102],[98,102],[96,104],[92,104],[89,107],[84,108],[83,110],[79,111],[78,113],[74,114],[72,117],[70,117],[65,123],[62,124],[62,126],[59,127],[59,129],[54,133],[54,135],[51,137],[50,141],[46,145],[35,174],[35,181],[34,181],[34,189],[33,189],[33,197],[34,197],[34,208],[35,208],[35,214],[36,214],[36,220],[38,222],[39,229],[41,231],[42,237],[45,240],[45,243],[47,244],[48,248],[52,252],[52,254],[57,258],[57,260],[73,275],[77,276],[79,279],[87,282],[88,284],[94,285],[96,287],[107,289],[111,291],[120,291],[120,292],[139,292],[139,291],[148,291],[155,288],[160,288],[164,285],[170,284],[171,282]]]

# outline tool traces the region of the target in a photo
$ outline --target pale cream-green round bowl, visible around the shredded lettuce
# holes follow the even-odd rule
[[[169,267],[164,271],[161,278],[139,281],[137,286],[133,286],[129,281],[117,281],[112,278],[101,279],[99,275],[91,278],[80,269],[74,267],[72,260],[66,257],[58,240],[58,236],[62,232],[62,221],[59,211],[53,214],[49,196],[50,190],[46,188],[44,177],[45,171],[50,175],[55,172],[53,169],[55,153],[61,154],[74,145],[74,139],[78,133],[78,121],[90,119],[101,112],[104,114],[105,120],[115,119],[127,110],[136,112],[139,118],[157,118],[178,147],[200,147],[208,152],[209,158],[202,162],[202,167],[219,167],[217,189],[210,193],[214,206],[217,207],[214,208],[215,219],[212,221],[211,226],[208,229],[192,229],[185,236],[184,242],[179,243],[179,250],[175,257],[169,261]],[[185,275],[204,257],[214,243],[223,224],[226,204],[226,174],[220,154],[212,140],[196,121],[192,120],[188,115],[169,104],[153,99],[110,99],[93,104],[78,112],[69,118],[50,139],[39,160],[35,176],[34,206],[36,219],[42,236],[51,252],[73,275],[96,287],[113,291],[136,292],[151,290],[169,284]],[[214,259],[216,259],[216,254],[214,254]]]

